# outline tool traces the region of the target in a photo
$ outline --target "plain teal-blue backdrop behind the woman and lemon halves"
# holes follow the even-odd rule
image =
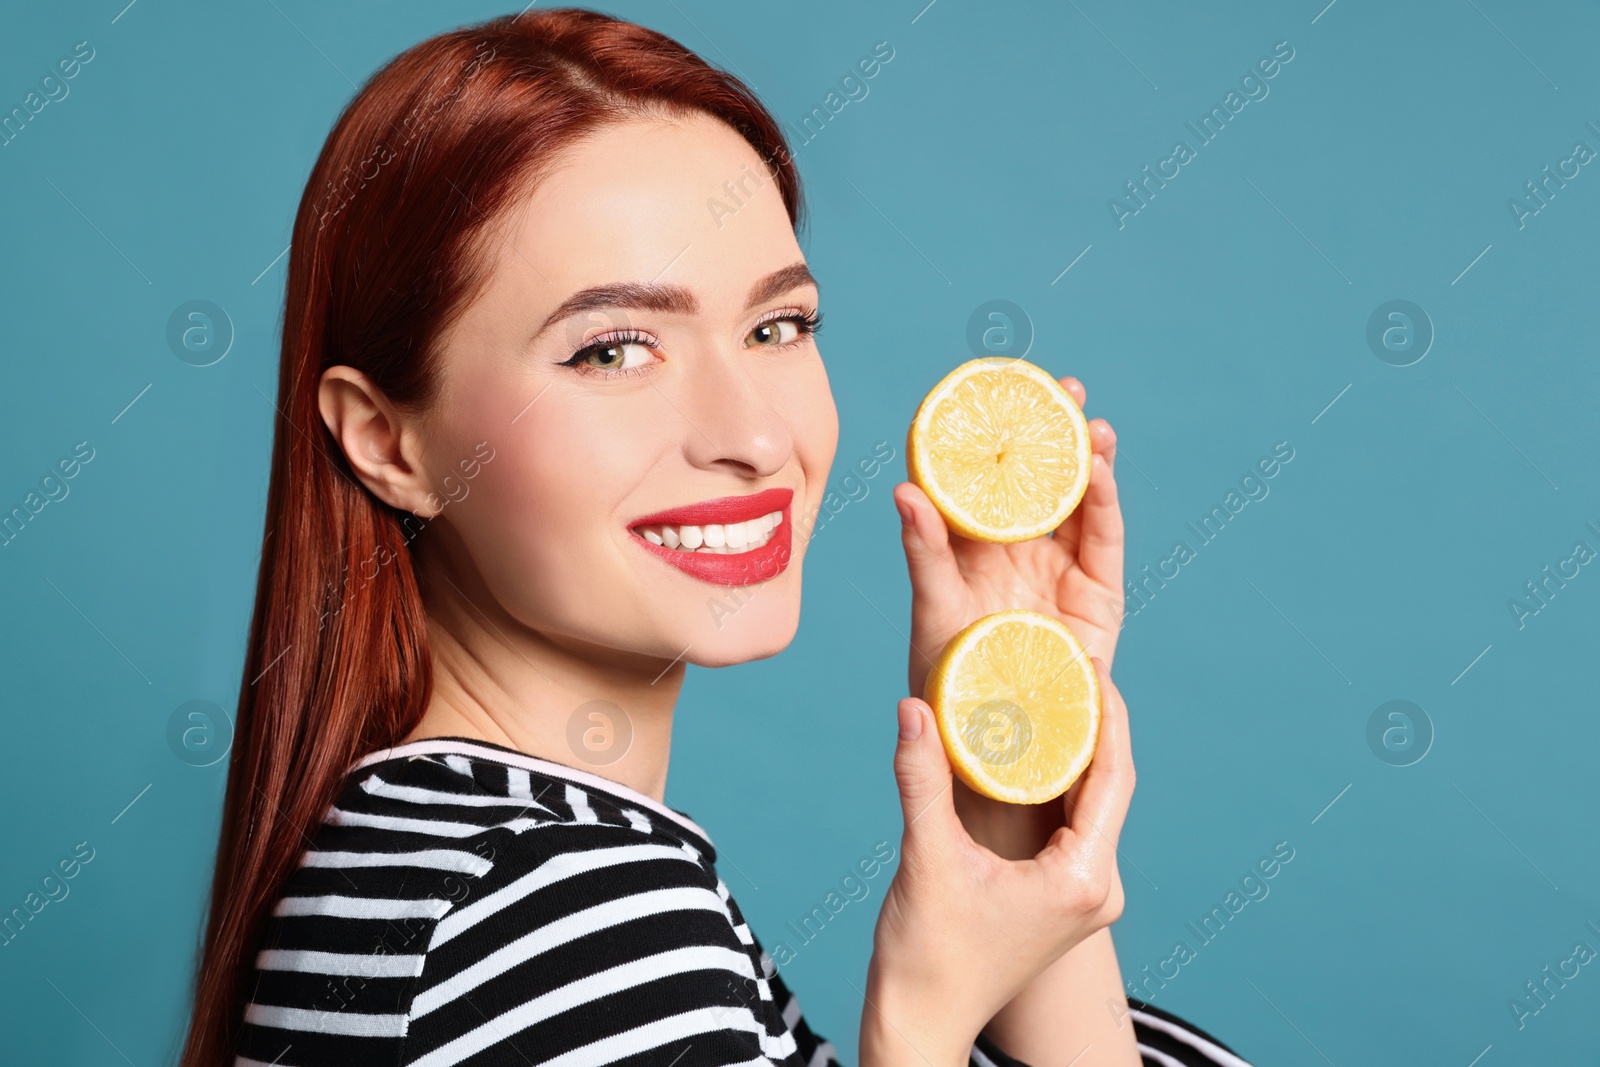
[[[237,696],[275,258],[352,82],[502,13],[123,3],[10,3],[0,34],[0,110],[74,43],[96,51],[0,149],[0,510],[74,443],[96,450],[0,549],[0,910],[77,841],[96,849],[0,949],[0,1059],[18,1064],[176,1054],[224,782],[222,765],[176,760],[165,725],[184,701]],[[1522,629],[1507,600],[1574,541],[1600,549],[1584,528],[1600,526],[1600,171],[1525,229],[1507,198],[1574,141],[1600,149],[1584,128],[1600,125],[1600,16],[1509,0],[923,3],[610,8],[731,64],[790,125],[874,43],[894,48],[798,162],[835,478],[880,440],[896,461],[816,539],[794,646],[690,672],[669,803],[710,830],[768,945],[898,841],[909,589],[890,488],[917,402],[971,357],[968,315],[1010,299],[1035,331],[1029,358],[1080,376],[1090,414],[1118,430],[1130,576],[1194,544],[1186,522],[1274,443],[1294,448],[1270,496],[1123,632],[1139,766],[1115,928],[1126,977],[1194,944],[1186,923],[1288,841],[1270,896],[1157,1003],[1262,1065],[1594,1056],[1600,966],[1520,1030],[1507,1001],[1574,942],[1600,949],[1584,926],[1600,925],[1600,568]],[[1118,229],[1107,198],[1192,142],[1184,123],[1280,40],[1294,59],[1270,94]],[[166,347],[189,299],[237,328],[214,366]],[[1390,299],[1437,330],[1411,366],[1366,344]],[[1368,747],[1390,699],[1434,723],[1413,766]],[[786,968],[846,1064],[885,885]]]

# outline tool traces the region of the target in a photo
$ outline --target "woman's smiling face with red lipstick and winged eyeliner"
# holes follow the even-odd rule
[[[581,654],[781,651],[838,416],[755,150],[706,115],[610,125],[501,234],[443,339],[424,566]]]

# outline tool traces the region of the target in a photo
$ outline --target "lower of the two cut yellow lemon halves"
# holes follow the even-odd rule
[[[1037,611],[997,611],[952,637],[923,699],[957,776],[1013,805],[1067,792],[1099,741],[1094,664],[1072,630]]]

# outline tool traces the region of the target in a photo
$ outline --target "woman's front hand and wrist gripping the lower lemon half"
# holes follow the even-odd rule
[[[1037,856],[1005,859],[957,816],[931,709],[899,702],[906,830],[874,933],[862,1067],[966,1062],[978,1032],[1069,949],[1122,915],[1117,837],[1133,795],[1128,709],[1099,657],[1101,733],[1070,819]]]

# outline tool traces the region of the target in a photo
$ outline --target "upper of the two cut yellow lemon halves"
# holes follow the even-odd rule
[[[1029,541],[1059,526],[1090,485],[1090,426],[1035,363],[984,357],[933,387],[906,435],[906,469],[973,541]]]

